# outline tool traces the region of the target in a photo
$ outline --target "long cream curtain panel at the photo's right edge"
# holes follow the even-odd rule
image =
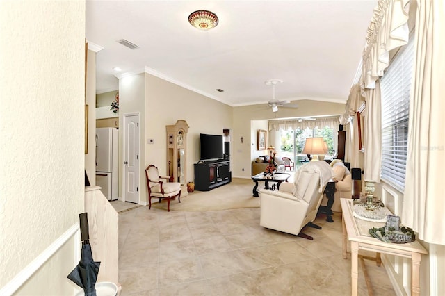
[[[402,222],[421,240],[445,245],[445,1],[417,0],[415,30]]]

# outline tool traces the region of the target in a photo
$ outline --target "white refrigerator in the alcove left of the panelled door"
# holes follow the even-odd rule
[[[108,200],[118,199],[118,142],[118,129],[96,129],[96,186],[102,188],[101,191]]]

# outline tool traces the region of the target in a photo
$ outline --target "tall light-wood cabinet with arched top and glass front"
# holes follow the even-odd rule
[[[187,131],[185,120],[178,120],[175,125],[166,126],[167,129],[167,170],[171,182],[181,183],[186,187],[187,181]],[[183,192],[187,192],[182,190]]]

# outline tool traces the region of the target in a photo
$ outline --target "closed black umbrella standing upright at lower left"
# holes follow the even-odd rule
[[[68,274],[67,278],[83,288],[86,296],[96,296],[95,284],[100,262],[95,262],[92,259],[91,245],[88,241],[90,239],[88,234],[88,213],[79,214],[79,219],[81,222],[82,240],[81,260],[76,268]]]

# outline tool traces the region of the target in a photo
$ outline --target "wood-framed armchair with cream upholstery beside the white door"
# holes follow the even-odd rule
[[[181,183],[168,182],[170,176],[159,176],[158,168],[154,165],[149,165],[145,169],[145,177],[147,178],[148,188],[148,208],[152,208],[152,197],[156,197],[161,202],[161,199],[167,199],[167,210],[170,212],[170,199],[176,199],[181,202]],[[165,179],[165,181],[161,181]]]

